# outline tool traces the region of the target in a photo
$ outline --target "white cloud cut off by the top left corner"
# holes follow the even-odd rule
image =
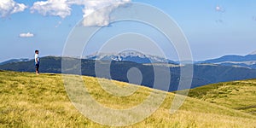
[[[26,9],[23,3],[16,3],[14,0],[1,0],[0,1],[0,17],[22,12]]]

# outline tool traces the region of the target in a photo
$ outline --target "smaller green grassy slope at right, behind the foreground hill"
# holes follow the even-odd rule
[[[256,115],[256,79],[201,86],[189,96]]]

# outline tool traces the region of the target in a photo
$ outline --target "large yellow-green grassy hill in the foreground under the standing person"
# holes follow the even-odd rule
[[[140,86],[131,96],[112,96],[102,90],[96,78],[84,76],[83,79],[90,95],[109,108],[131,108],[143,102],[152,91]],[[159,90],[158,93],[164,92]],[[168,93],[166,101],[153,115],[128,127],[256,127],[256,117],[252,114],[189,97],[177,113],[171,114],[173,97],[174,94]],[[37,76],[1,71],[0,113],[0,127],[108,127],[92,122],[73,107],[61,74]]]

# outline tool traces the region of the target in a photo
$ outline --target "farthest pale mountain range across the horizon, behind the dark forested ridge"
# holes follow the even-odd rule
[[[131,61],[142,64],[149,63],[169,63],[172,65],[179,65],[180,61],[172,61],[170,59],[160,57],[157,55],[144,55],[137,51],[127,50],[119,54],[114,53],[95,53],[86,55],[82,59],[86,60],[101,60],[101,61]],[[3,61],[0,65],[9,64],[13,62],[29,61],[29,59],[11,59]],[[256,69],[256,52],[249,55],[224,55],[216,59],[206,61],[194,61],[195,64],[216,64],[230,67],[248,67]]]

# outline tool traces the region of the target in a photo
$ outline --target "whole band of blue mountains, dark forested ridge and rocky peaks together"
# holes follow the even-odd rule
[[[177,85],[179,84],[180,79],[180,67],[187,65],[180,65],[177,62],[154,55],[143,55],[138,52],[125,51],[119,54],[88,55],[84,57],[85,59],[46,56],[40,58],[40,71],[43,73],[61,73],[61,60],[63,58],[81,61],[82,75],[93,77],[96,77],[96,61],[100,61],[99,67],[101,67],[102,70],[108,67],[110,62],[111,79],[124,82],[129,82],[126,76],[129,69],[131,67],[137,67],[143,74],[142,85],[148,87],[153,87],[154,85],[154,66],[159,67],[160,70],[166,70],[164,67],[168,67],[171,71],[172,77],[169,91],[177,90]],[[168,64],[166,64],[166,61]],[[73,70],[73,67],[80,66],[72,65],[70,67],[71,71]],[[35,70],[33,59],[15,59],[5,61],[2,65],[0,64],[0,69],[19,72],[34,72]],[[225,55],[217,59],[195,63],[191,88],[205,84],[241,79],[256,79],[256,55]]]

